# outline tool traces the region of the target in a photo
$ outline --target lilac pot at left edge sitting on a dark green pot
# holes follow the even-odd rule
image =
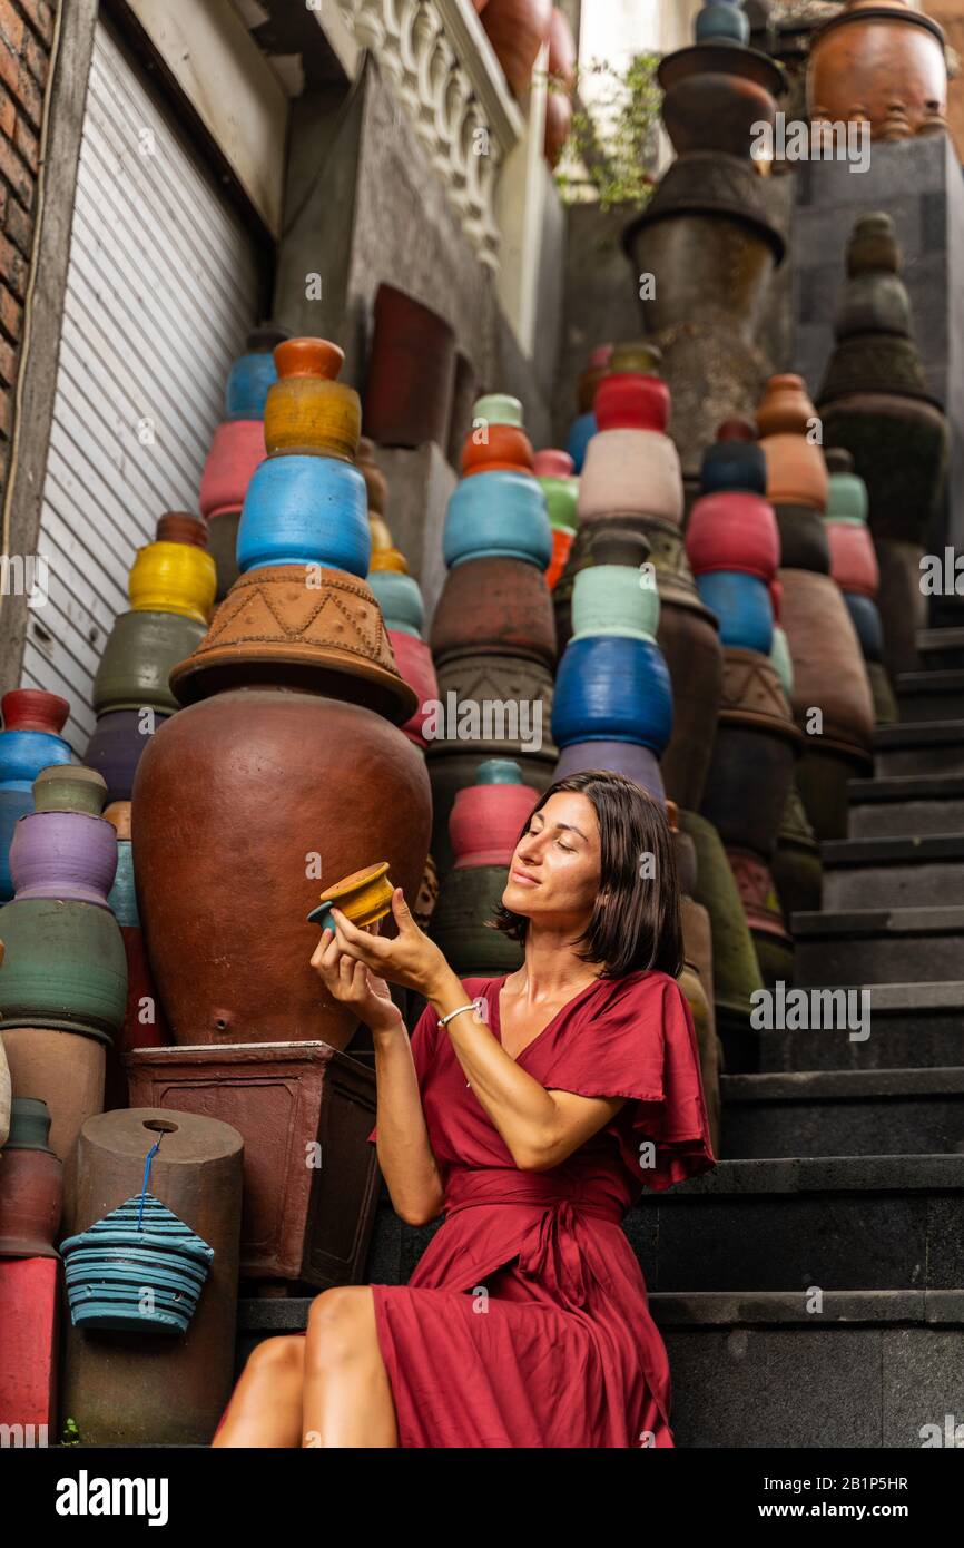
[[[110,907],[118,833],[87,811],[34,811],[20,817],[9,851],[17,899],[62,898]]]

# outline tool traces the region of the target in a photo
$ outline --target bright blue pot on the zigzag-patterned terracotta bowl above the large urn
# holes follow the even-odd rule
[[[269,457],[254,472],[238,523],[241,574],[323,565],[364,580],[371,562],[365,480],[334,457]]]

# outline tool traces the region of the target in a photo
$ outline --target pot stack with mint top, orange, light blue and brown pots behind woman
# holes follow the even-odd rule
[[[517,398],[480,398],[463,449],[463,478],[446,512],[449,574],[432,619],[438,714],[426,720],[433,793],[432,854],[446,876],[449,813],[481,759],[514,759],[545,789],[555,622],[546,585],[552,537]]]

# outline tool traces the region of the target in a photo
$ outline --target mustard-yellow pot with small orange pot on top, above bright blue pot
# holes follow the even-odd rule
[[[337,457],[353,463],[362,404],[353,387],[336,381],[344,351],[326,339],[286,339],[274,359],[279,379],[265,402],[268,455]]]

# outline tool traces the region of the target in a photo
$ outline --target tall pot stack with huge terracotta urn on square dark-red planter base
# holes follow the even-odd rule
[[[365,579],[361,402],[342,361],[323,339],[275,350],[240,576],[172,672],[186,707],[153,737],[132,803],[138,912],[175,1042],[127,1056],[132,1102],[234,1124],[243,1272],[316,1286],[361,1272],[373,1077],[340,1053],[357,1022],[309,966],[308,915],[373,864],[413,901],[432,820],[424,754],[401,731],[416,698]],[[323,1133],[339,1135],[323,1172],[292,1167]]]

